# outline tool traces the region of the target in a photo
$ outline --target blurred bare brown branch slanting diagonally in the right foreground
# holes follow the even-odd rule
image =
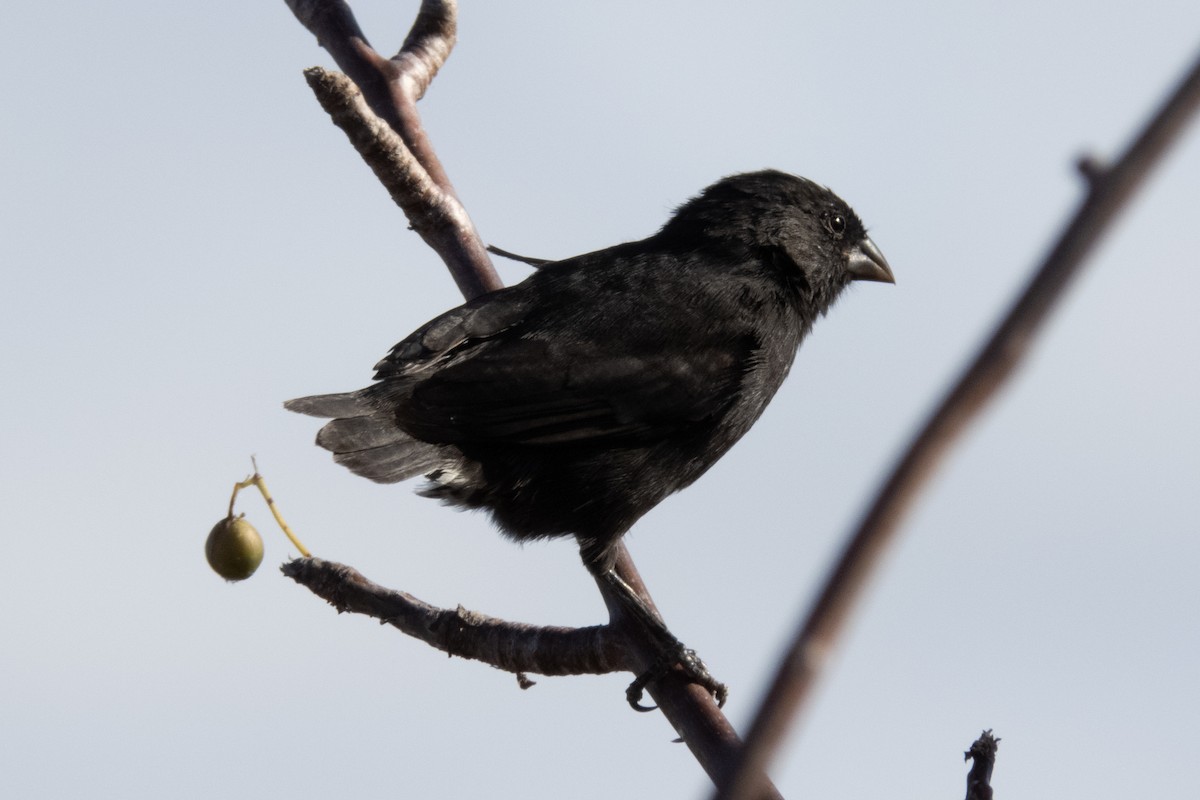
[[[1108,170],[1094,160],[1086,170],[1088,194],[1025,293],[991,339],[946,395],[910,444],[848,540],[826,582],[746,736],[742,763],[720,800],[743,800],[754,789],[816,681],[854,602],[918,492],[967,423],[996,397],[1027,355],[1037,333],[1117,213],[1146,181],[1200,106],[1200,61],[1146,128]]]

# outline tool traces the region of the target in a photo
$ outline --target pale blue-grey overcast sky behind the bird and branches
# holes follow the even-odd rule
[[[354,4],[391,54],[416,2]],[[629,543],[744,729],[866,498],[1200,48],[1158,2],[462,2],[421,109],[484,237],[560,258],[715,179],[832,186],[898,278],[820,323],[754,431]],[[301,77],[283,2],[18,4],[0,29],[0,793],[701,798],[629,675],[529,691],[204,539],[258,464],[318,555],[588,625],[570,542],[376,486],[282,401],[460,302]],[[773,776],[790,798],[1187,796],[1200,750],[1200,127],[946,461]],[[524,275],[504,265],[508,281]]]

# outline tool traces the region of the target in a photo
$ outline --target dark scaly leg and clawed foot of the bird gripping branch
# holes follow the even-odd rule
[[[612,596],[620,604],[620,610],[637,624],[637,627],[649,638],[658,652],[650,668],[638,675],[625,690],[625,699],[629,700],[630,706],[637,711],[653,711],[653,705],[642,705],[642,693],[652,682],[666,676],[676,664],[679,664],[689,680],[708,690],[719,706],[724,706],[728,694],[725,684],[713,678],[696,651],[684,646],[683,642],[676,638],[662,618],[634,591],[632,587],[625,583],[611,566],[604,566],[606,559],[589,558],[592,554],[589,549],[587,546],[582,548],[583,563],[588,571],[610,588]]]

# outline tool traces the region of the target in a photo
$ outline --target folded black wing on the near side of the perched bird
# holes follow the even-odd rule
[[[564,335],[540,314],[526,293],[508,290],[448,312],[377,365],[372,391],[426,441],[648,441],[727,407],[756,345],[727,335]]]

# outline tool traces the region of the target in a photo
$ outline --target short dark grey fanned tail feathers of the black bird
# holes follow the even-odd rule
[[[317,444],[334,453],[338,464],[378,483],[398,483],[433,473],[457,457],[449,445],[421,441],[401,431],[390,413],[372,405],[365,390],[298,397],[283,408],[332,417],[317,433]]]

